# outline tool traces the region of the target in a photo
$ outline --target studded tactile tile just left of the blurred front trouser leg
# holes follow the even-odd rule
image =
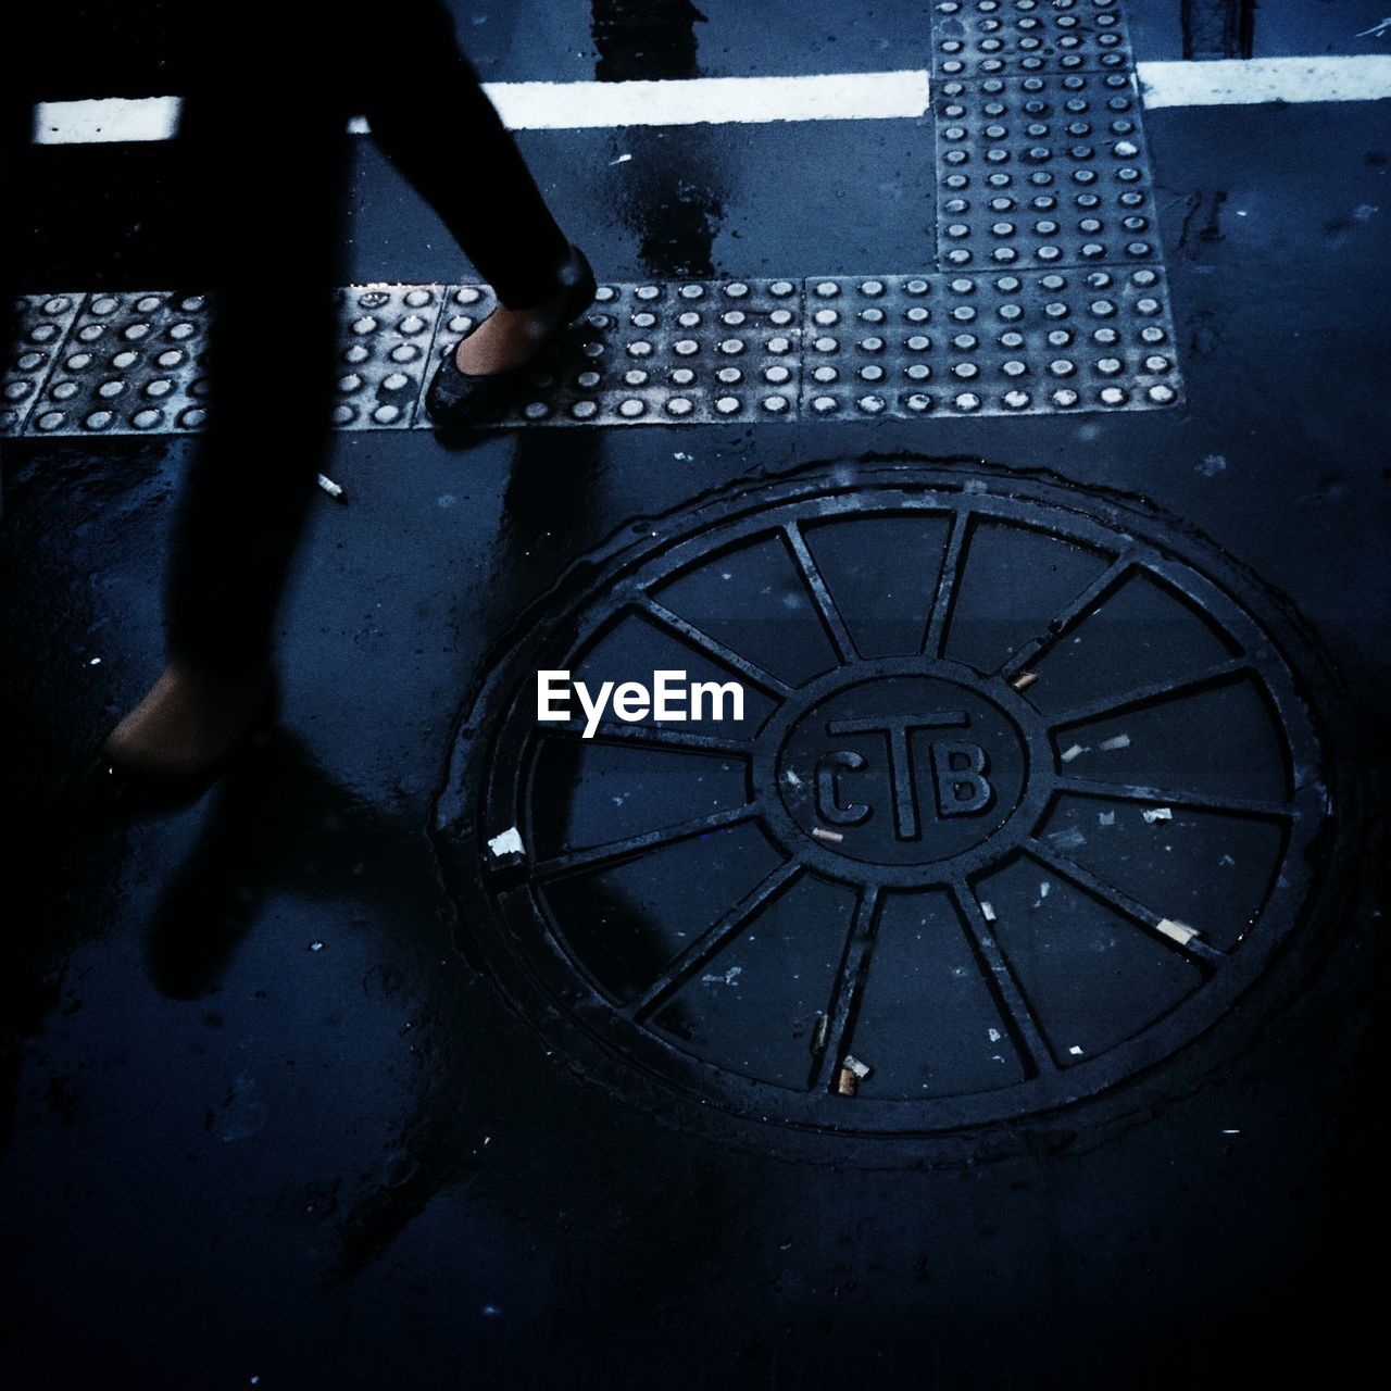
[[[184,434],[207,413],[207,296],[93,294],[77,316],[26,434]]]

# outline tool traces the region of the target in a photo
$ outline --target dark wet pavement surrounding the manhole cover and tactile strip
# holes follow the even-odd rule
[[[1358,38],[1380,8],[1266,0],[1252,51],[1391,51]],[[686,38],[637,4],[595,6],[611,29],[581,0],[455,10],[487,81],[932,61],[929,4],[702,0]],[[1125,10],[1141,63],[1184,56],[1177,3]],[[53,99],[170,90],[124,33],[113,56],[93,28]],[[196,442],[4,441],[10,1384],[1346,1384],[1387,1239],[1388,115],[1148,113],[1175,409],[337,435],[281,727],[161,821],[79,826],[63,789],[161,666]],[[935,256],[931,115],[520,143],[615,281]],[[26,288],[196,284],[166,149],[38,159]],[[369,142],[346,235],[353,281],[470,274]],[[1317,910],[1209,1031],[1100,1097],[803,1145],[569,1057],[474,950],[472,860],[434,828],[476,690],[588,593],[576,561],[821,463],[1142,513],[1292,634],[1335,791]]]

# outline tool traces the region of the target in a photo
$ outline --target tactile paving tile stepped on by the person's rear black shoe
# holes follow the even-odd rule
[[[462,287],[459,294],[481,294]],[[485,313],[481,299],[477,305]],[[673,424],[793,416],[801,282],[601,285],[590,313],[531,374],[505,423]],[[437,359],[467,321],[440,334]],[[428,421],[421,421],[427,424]]]

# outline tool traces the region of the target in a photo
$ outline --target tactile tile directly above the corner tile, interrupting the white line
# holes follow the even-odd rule
[[[1128,72],[947,81],[933,104],[943,270],[1157,260]]]

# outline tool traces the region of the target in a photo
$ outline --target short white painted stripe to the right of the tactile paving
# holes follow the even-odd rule
[[[1148,110],[1262,102],[1380,102],[1391,97],[1391,54],[1353,58],[1217,58],[1139,63]]]

